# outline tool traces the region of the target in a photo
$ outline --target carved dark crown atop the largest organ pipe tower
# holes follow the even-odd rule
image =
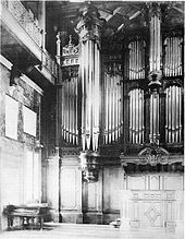
[[[91,3],[88,3],[81,12],[82,19],[76,26],[79,41],[96,40],[100,43],[101,28],[104,20],[100,19],[98,9]]]

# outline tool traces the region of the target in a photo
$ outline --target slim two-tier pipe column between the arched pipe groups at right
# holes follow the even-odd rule
[[[149,3],[150,48],[149,48],[149,87],[150,87],[150,143],[159,143],[159,87],[161,85],[161,9],[159,3]]]

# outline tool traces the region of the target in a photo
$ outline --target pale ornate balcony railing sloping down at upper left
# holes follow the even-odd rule
[[[51,56],[47,52],[47,50],[42,50],[42,37],[45,37],[45,33],[42,33],[40,29],[38,20],[34,16],[33,12],[30,10],[27,11],[18,0],[1,0],[1,3],[8,9],[16,22],[26,31],[37,46],[40,47],[42,51],[42,65],[55,76],[57,63],[51,59]]]

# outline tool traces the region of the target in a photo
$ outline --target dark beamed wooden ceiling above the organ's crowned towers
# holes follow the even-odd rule
[[[124,29],[126,24],[133,29],[146,26],[144,15],[147,3],[144,1],[90,1],[90,3],[97,7],[100,17],[106,20],[104,36]],[[81,9],[85,4],[87,4],[85,1],[47,1],[47,15],[61,31],[71,31],[81,20]],[[161,4],[168,9],[166,19],[170,25],[183,24],[183,1],[163,1]]]

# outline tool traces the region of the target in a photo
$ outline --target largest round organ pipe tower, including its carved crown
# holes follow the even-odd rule
[[[89,23],[89,17],[91,22]],[[103,21],[88,5],[76,31],[79,36],[82,85],[82,146],[97,152],[100,133],[100,34]]]

